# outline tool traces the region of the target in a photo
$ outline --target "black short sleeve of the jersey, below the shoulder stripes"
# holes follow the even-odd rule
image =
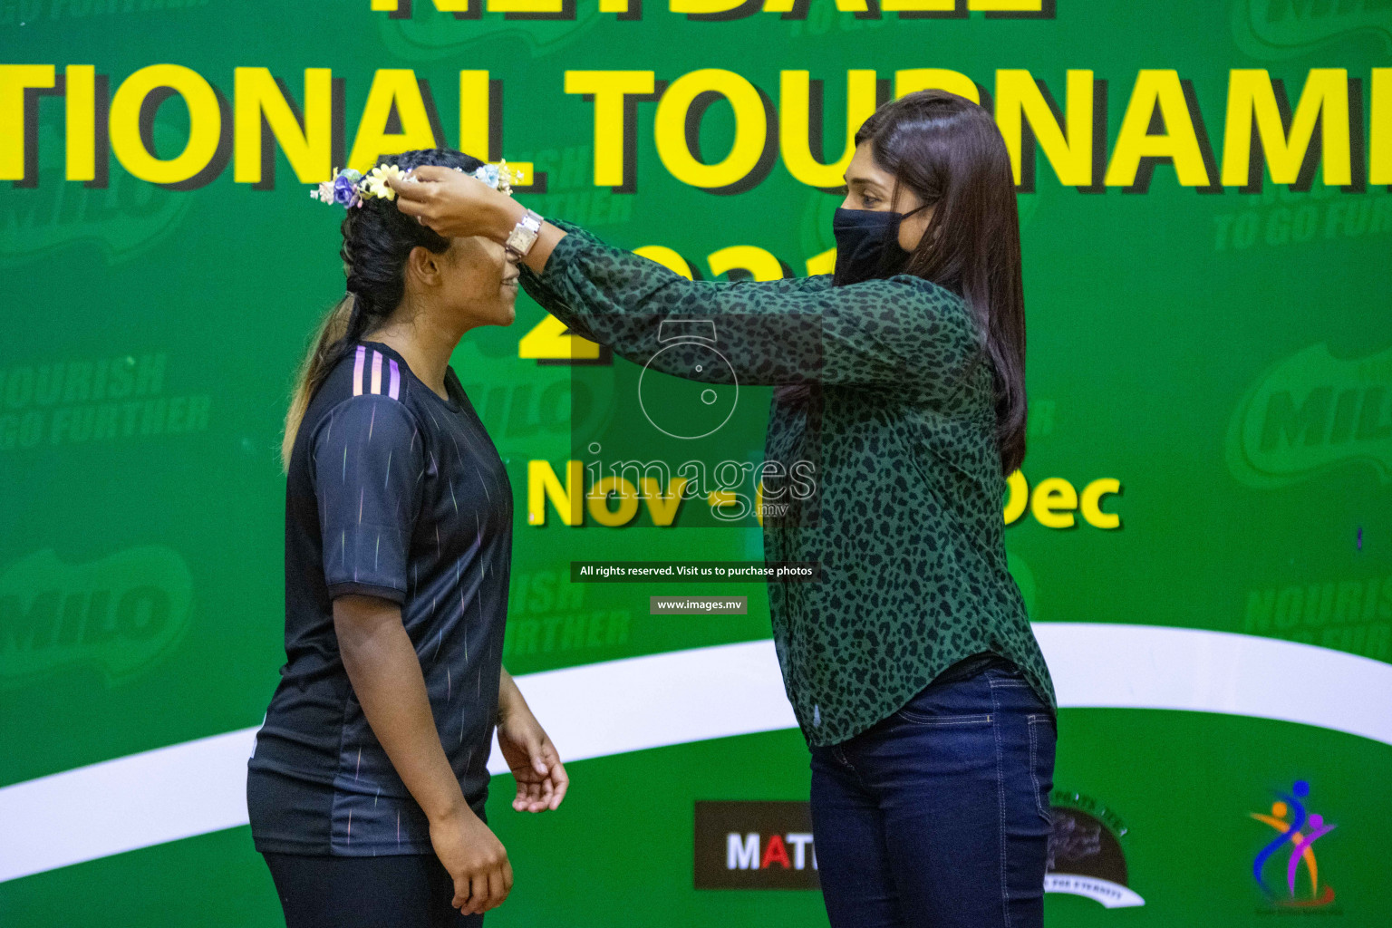
[[[405,602],[423,462],[415,416],[391,397],[352,397],[324,416],[313,473],[331,597]]]

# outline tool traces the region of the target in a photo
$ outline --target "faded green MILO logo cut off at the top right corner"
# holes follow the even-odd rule
[[[1233,38],[1257,58],[1288,58],[1354,33],[1377,33],[1392,47],[1388,0],[1237,0]]]

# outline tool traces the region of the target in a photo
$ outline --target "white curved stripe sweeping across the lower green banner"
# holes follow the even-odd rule
[[[1221,712],[1392,744],[1392,665],[1275,639],[1143,625],[1034,626],[1066,708]],[[795,725],[773,643],[748,641],[518,678],[578,761]],[[0,882],[246,824],[256,729],[0,789]],[[497,750],[489,762],[505,772]]]

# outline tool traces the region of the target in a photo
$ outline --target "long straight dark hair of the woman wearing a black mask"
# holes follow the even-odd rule
[[[1009,474],[1025,461],[1025,287],[1020,217],[1005,139],[991,114],[947,90],[885,103],[856,132],[895,185],[937,206],[898,270],[960,295],[995,374],[997,444]]]

